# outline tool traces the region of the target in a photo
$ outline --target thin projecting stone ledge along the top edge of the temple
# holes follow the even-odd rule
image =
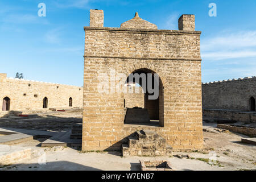
[[[142,33],[170,33],[170,34],[201,34],[201,31],[185,30],[158,30],[158,29],[136,29],[136,28],[110,28],[110,27],[84,27],[84,30],[96,31],[125,31],[125,32],[142,32]]]

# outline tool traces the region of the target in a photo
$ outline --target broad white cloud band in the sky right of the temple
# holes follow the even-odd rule
[[[256,31],[225,33],[202,39],[201,55],[209,60],[256,57]]]

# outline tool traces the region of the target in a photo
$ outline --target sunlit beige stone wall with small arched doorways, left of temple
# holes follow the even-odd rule
[[[7,78],[0,73],[0,117],[9,111],[82,107],[82,87]]]

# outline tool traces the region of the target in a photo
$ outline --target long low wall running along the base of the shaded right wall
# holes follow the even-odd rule
[[[226,110],[226,109],[203,109],[203,117],[229,119],[237,122],[256,122],[256,112]]]

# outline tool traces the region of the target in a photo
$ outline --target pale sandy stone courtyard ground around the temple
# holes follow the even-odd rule
[[[81,122],[80,116],[79,113],[63,113],[61,117],[0,121],[0,127],[60,131],[71,129],[73,123]],[[172,156],[156,158],[122,157],[119,152],[81,152],[79,148],[60,146],[40,147],[40,143],[47,138],[37,138],[13,145],[31,148],[30,159],[19,160],[0,170],[139,170],[141,159],[168,160],[175,170],[256,170],[256,146],[241,143],[241,138],[248,137],[217,129],[216,123],[204,123],[204,150],[173,152]]]

